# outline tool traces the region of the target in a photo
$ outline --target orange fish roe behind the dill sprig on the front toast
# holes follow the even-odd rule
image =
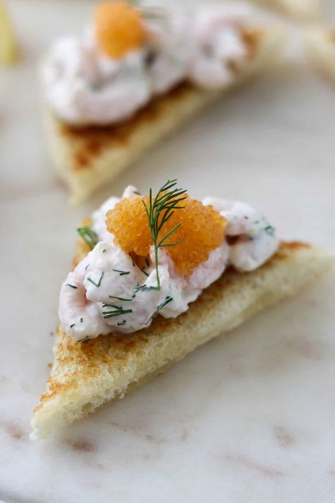
[[[107,212],[107,231],[114,234],[115,242],[126,252],[146,257],[153,244],[150,236],[148,217],[143,207],[148,204],[148,196],[123,198]],[[180,222],[182,225],[165,241],[166,244],[182,240],[177,245],[165,248],[177,270],[182,274],[192,274],[194,268],[208,259],[209,252],[223,243],[226,220],[211,206],[189,196],[182,201],[183,209],[176,209],[160,230],[163,238]]]

